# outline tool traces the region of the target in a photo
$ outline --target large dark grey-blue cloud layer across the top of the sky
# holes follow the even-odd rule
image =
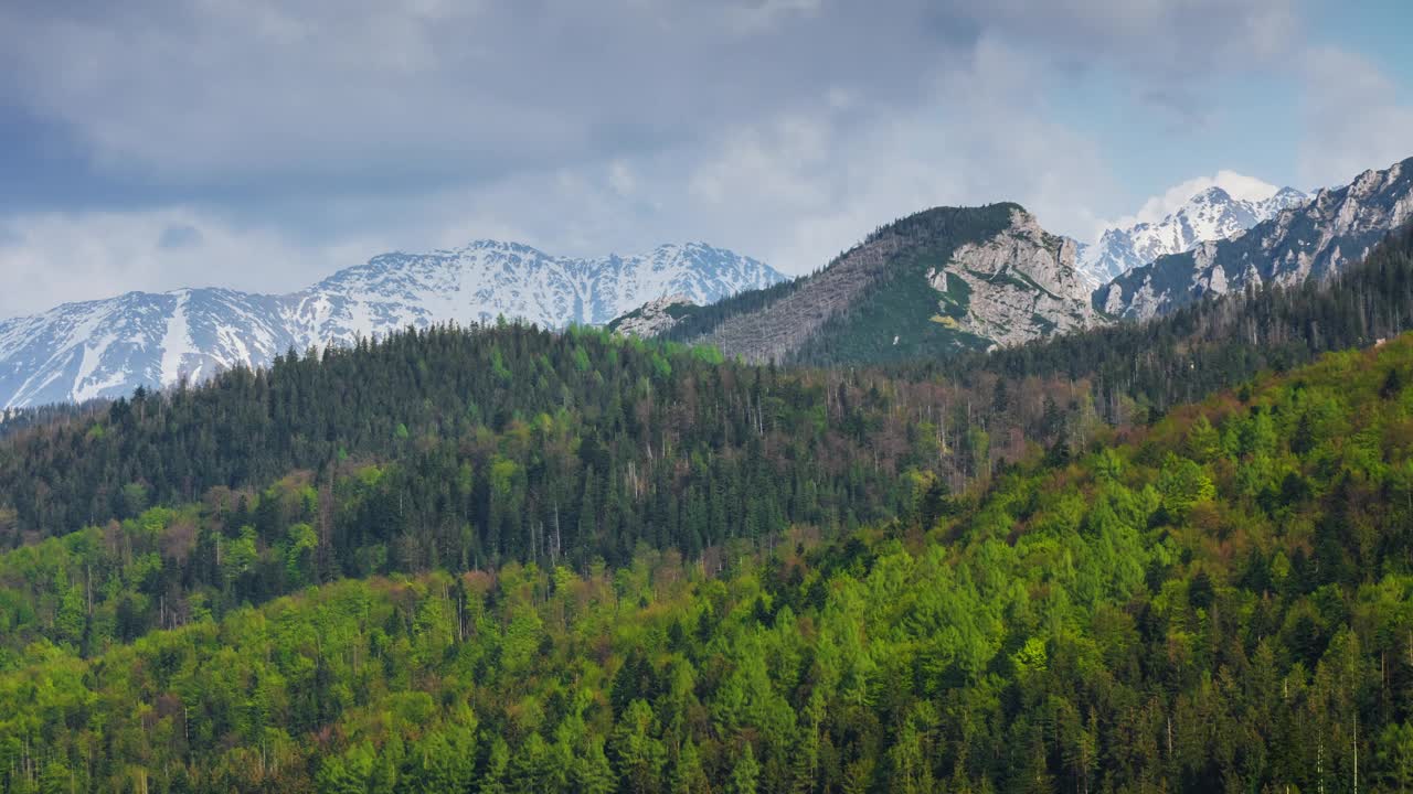
[[[0,4],[0,100],[109,171],[276,194],[579,165],[839,96],[892,113],[986,35],[1173,89],[1293,27],[1293,0],[62,6]]]

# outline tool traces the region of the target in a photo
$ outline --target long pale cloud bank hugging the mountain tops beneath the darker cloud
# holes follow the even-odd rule
[[[852,103],[822,102],[666,151],[521,170],[413,199],[342,199],[325,212],[352,232],[317,242],[188,208],[21,216],[0,242],[0,270],[17,284],[0,297],[0,316],[126,290],[290,291],[384,250],[479,237],[572,256],[706,240],[804,273],[876,226],[937,205],[1019,201],[1047,227],[1088,229],[1087,202],[1112,195],[1112,181],[1102,153],[1044,120],[1041,68],[986,38],[933,71],[926,102],[868,126],[844,123]]]

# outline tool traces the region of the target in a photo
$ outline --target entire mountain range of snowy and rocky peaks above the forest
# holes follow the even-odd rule
[[[567,259],[480,240],[382,254],[287,295],[129,292],[3,321],[0,407],[117,397],[266,365],[291,348],[499,316],[609,325],[755,362],[937,357],[1146,319],[1248,284],[1323,278],[1410,216],[1405,161],[1314,196],[1211,186],[1092,246],[1044,230],[1016,203],[934,208],[793,281],[702,243]]]

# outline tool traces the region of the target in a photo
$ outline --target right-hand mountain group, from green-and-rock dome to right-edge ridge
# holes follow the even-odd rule
[[[1314,196],[1273,188],[1235,198],[1212,186],[1089,249],[1019,205],[937,208],[885,226],[814,275],[718,307],[658,307],[633,328],[756,362],[935,359],[1149,319],[1245,285],[1324,280],[1410,218],[1413,160]]]

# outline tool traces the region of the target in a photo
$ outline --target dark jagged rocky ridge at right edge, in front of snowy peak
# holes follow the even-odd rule
[[[1327,278],[1413,220],[1413,158],[1320,191],[1245,235],[1164,256],[1094,292],[1112,315],[1147,319],[1204,297]]]

